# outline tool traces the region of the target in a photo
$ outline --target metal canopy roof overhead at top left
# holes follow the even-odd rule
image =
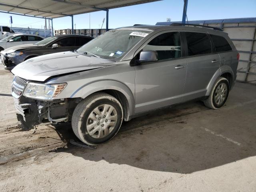
[[[0,11],[59,18],[159,0],[0,0]]]

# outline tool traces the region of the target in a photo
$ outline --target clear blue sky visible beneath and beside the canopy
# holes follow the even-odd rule
[[[109,10],[109,28],[130,26],[133,24],[156,24],[166,18],[172,21],[182,20],[183,0],[163,0],[147,4],[128,6]],[[12,14],[0,13],[0,25],[9,24]],[[224,18],[256,17],[256,0],[188,0],[188,20],[208,20]],[[98,11],[90,14],[91,28],[102,25],[106,12]],[[13,26],[44,27],[44,20],[25,16],[12,15]],[[89,14],[74,16],[76,29],[89,28]],[[48,25],[48,22],[47,22]],[[54,30],[71,28],[71,18],[53,20]],[[105,28],[105,24],[102,28]]]

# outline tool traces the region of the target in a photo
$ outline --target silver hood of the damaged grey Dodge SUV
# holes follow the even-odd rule
[[[92,70],[112,65],[113,61],[74,52],[60,52],[28,59],[12,73],[27,80],[45,81],[51,76]]]

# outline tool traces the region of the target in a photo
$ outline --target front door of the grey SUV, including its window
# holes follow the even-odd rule
[[[161,32],[151,37],[142,50],[158,52],[157,62],[135,66],[135,112],[145,112],[182,102],[187,60],[182,56],[180,33]]]

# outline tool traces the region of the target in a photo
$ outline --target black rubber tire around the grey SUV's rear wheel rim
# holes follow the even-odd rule
[[[225,97],[224,101],[221,104],[217,104],[214,100],[214,95],[216,93],[216,90],[217,90],[218,86],[220,84],[223,84],[223,83],[226,84],[227,94],[226,94],[226,97]],[[212,90],[210,92],[210,96],[206,100],[204,100],[204,105],[208,108],[211,108],[211,109],[219,109],[225,104],[225,102],[228,98],[228,93],[229,93],[229,82],[228,82],[228,80],[224,77],[219,77],[216,80],[214,86],[212,87]]]

